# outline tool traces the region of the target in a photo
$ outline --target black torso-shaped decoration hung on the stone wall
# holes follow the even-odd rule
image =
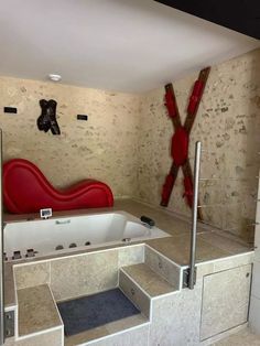
[[[37,128],[40,131],[47,132],[50,129],[53,134],[61,134],[61,130],[56,120],[56,106],[57,102],[54,99],[40,100],[42,113],[37,118]]]

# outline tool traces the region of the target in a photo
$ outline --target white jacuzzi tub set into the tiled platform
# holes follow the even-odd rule
[[[33,249],[35,256],[40,257],[167,236],[155,226],[148,228],[126,212],[52,217],[7,223],[4,252],[11,260],[14,251],[20,251],[21,257],[25,258],[28,250]]]

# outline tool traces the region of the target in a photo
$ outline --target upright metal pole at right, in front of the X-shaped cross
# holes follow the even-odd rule
[[[191,234],[191,252],[189,252],[189,274],[188,289],[193,290],[196,281],[195,277],[195,261],[196,261],[196,235],[197,235],[197,201],[198,201],[198,182],[199,182],[199,166],[201,166],[202,142],[196,142],[195,147],[195,162],[194,162],[194,182],[193,182],[193,218],[192,218],[192,234]]]

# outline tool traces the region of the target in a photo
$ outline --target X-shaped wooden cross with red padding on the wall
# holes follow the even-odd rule
[[[204,68],[199,72],[198,78],[194,84],[193,91],[189,97],[187,117],[183,126],[177,109],[173,85],[165,85],[165,106],[167,108],[169,117],[172,119],[175,132],[172,138],[171,148],[173,163],[163,185],[161,199],[162,206],[167,206],[169,204],[180,167],[182,167],[184,175],[183,196],[186,198],[187,205],[191,208],[193,206],[193,173],[188,160],[188,141],[209,72],[210,67]],[[202,219],[201,213],[198,213],[198,217]]]

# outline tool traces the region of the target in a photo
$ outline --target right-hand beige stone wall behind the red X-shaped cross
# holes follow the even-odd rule
[[[203,101],[191,134],[189,154],[195,141],[203,149],[202,176],[220,177],[201,183],[201,203],[220,204],[203,209],[213,225],[250,238],[254,219],[260,151],[260,50],[212,68]],[[184,120],[191,87],[197,74],[173,83]],[[167,83],[170,80],[165,80]],[[164,107],[164,89],[143,95],[140,106],[139,198],[160,204],[165,174],[171,166],[173,126]],[[192,160],[193,164],[193,160]],[[178,175],[169,209],[191,215]]]

